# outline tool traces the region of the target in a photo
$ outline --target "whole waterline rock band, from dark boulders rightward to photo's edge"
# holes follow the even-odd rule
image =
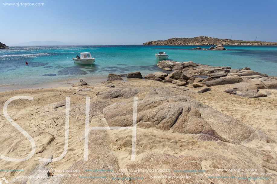
[[[157,65],[167,73],[155,72],[143,77],[138,71],[128,73],[127,78],[144,78],[163,83],[172,83],[177,86],[191,85],[195,88],[238,83],[224,92],[248,98],[264,97],[271,94],[270,92],[260,93],[259,89],[277,89],[277,80],[274,77],[268,77],[266,74],[250,70],[249,67],[237,70],[231,69],[231,67],[212,67],[192,61],[159,61]],[[168,73],[171,70],[173,71]],[[110,73],[108,81],[112,80],[123,79],[119,75]],[[205,88],[198,93],[207,91],[211,91],[211,89]]]

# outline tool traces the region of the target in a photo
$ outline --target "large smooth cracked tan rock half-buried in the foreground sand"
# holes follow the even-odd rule
[[[133,101],[111,104],[103,112],[109,126],[133,126]],[[138,100],[137,126],[185,134],[208,134],[232,143],[248,139],[255,132],[240,120],[163,88],[155,88]]]

